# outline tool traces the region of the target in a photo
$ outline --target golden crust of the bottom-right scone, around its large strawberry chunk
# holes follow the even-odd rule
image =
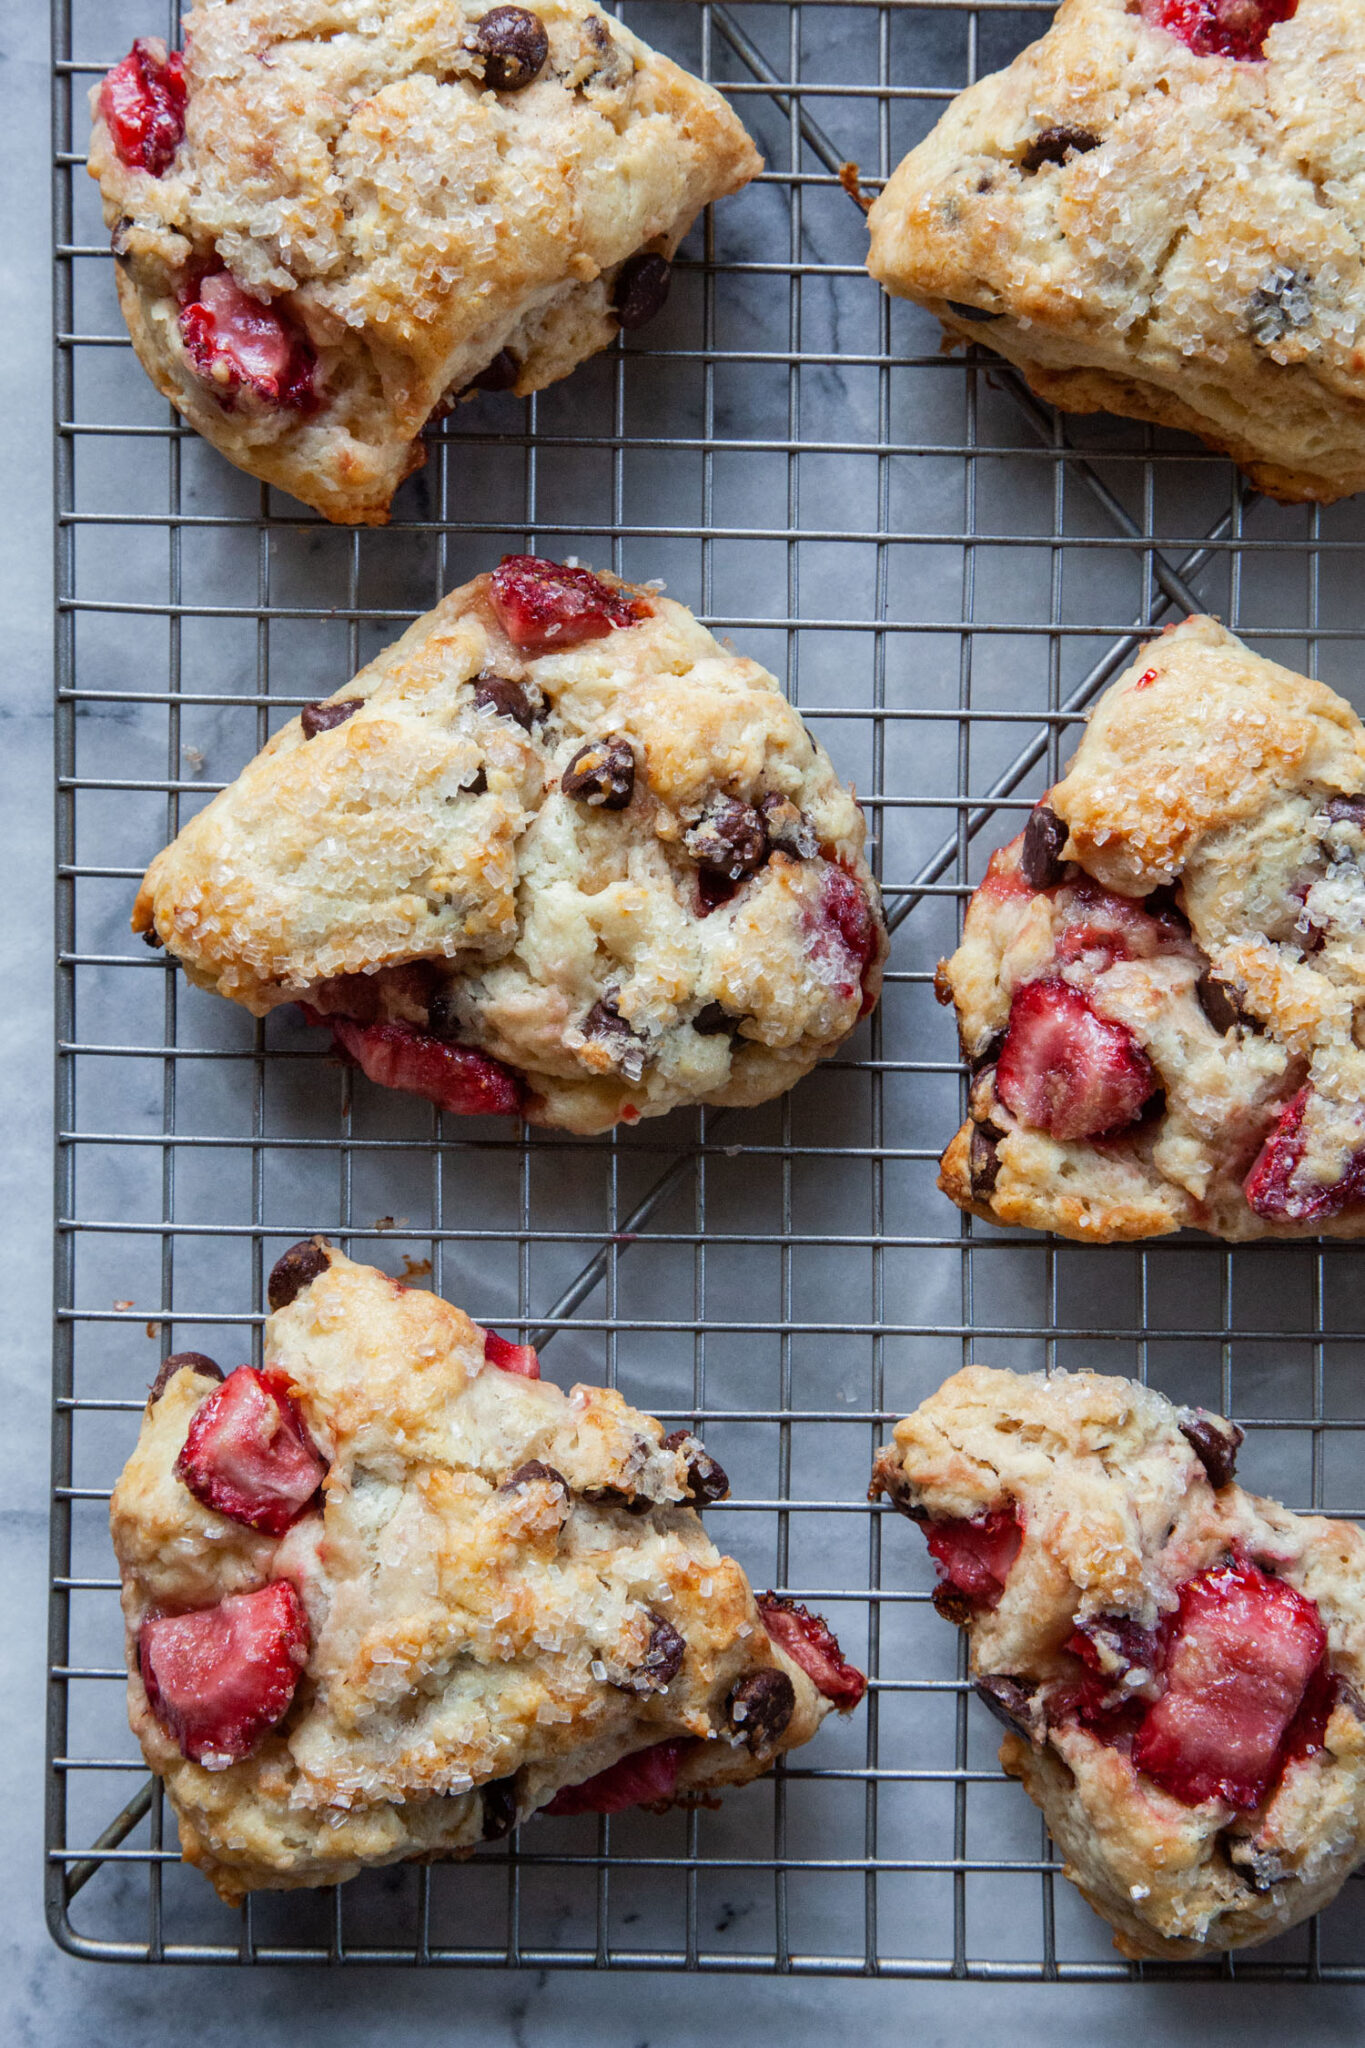
[[[1042,1806],[1066,1876],[1115,1929],[1115,1948],[1160,1960],[1283,1933],[1365,1853],[1365,1538],[1234,1483],[1214,1487],[1183,1421],[1205,1438],[1228,1432],[1132,1380],[968,1366],[896,1423],[872,1481],[917,1520],[1013,1505],[1023,1540],[999,1606],[966,1620],[972,1677],[1017,1683],[995,1688],[1021,1716],[1001,1763]],[[1336,1679],[1322,1747],[1293,1757],[1242,1812],[1175,1798],[1121,1739],[1103,1741],[1066,1706],[1085,1669],[1066,1649],[1078,1624],[1152,1630],[1175,1612],[1177,1587],[1228,1552],[1316,1602]]]

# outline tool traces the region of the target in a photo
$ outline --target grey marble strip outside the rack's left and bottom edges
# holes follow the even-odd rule
[[[8,1315],[0,1335],[8,1626],[0,1630],[0,2038],[18,2044],[241,2040],[641,2044],[786,2040],[1355,2040],[1365,1993],[1244,1985],[1017,1987],[415,1970],[115,1968],[59,1954],[41,1921],[41,1759],[51,1337],[51,428],[47,23],[0,23],[10,201],[0,246],[0,520],[8,662],[0,680],[10,999],[0,1176]],[[16,983],[16,987],[14,987]]]

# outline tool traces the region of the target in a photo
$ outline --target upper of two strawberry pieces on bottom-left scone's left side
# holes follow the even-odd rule
[[[289,1380],[256,1366],[237,1366],[199,1403],[176,1458],[196,1501],[266,1536],[282,1536],[325,1477]]]

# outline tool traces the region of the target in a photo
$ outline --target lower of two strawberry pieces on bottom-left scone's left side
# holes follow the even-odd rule
[[[141,1624],[147,1706],[180,1753],[209,1772],[248,1757],[289,1710],[309,1657],[309,1620],[289,1579],[217,1608]]]

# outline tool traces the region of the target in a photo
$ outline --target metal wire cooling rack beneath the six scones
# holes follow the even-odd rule
[[[1179,436],[1058,420],[866,276],[839,164],[876,188],[1046,0],[622,12],[724,86],[767,172],[694,233],[645,336],[538,399],[463,408],[393,524],[348,532],[229,471],[137,369],[84,96],[156,23],[147,0],[53,0],[51,1927],[119,1960],[1124,1976],[999,1774],[923,1544],[864,1501],[872,1454],[970,1356],[1087,1362],[1236,1413],[1250,1485],[1351,1513],[1359,1253],[1095,1251],[960,1221],[933,1190],[962,1073],[931,973],[1150,627],[1212,608],[1351,690],[1361,512],[1281,510]],[[522,547],[663,575],[864,791],[898,926],[886,995],[778,1104],[610,1141],[442,1124],[338,1071],[293,1014],[254,1024],[129,938],[145,860],[282,719]],[[716,1540],[829,1612],[872,1671],[866,1710],[714,1812],[536,1821],[469,1864],[219,1907],[139,1792],[104,1503],[158,1358],[258,1358],[262,1276],[317,1229],[397,1272],[430,1262],[565,1384],[696,1423],[735,1485]],[[1365,1976],[1357,1911],[1222,1972]]]

